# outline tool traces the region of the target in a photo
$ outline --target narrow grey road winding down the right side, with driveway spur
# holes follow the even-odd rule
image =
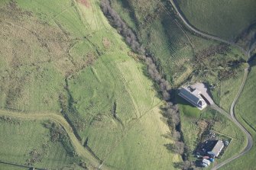
[[[216,37],[214,35],[211,35],[211,34],[207,34],[207,33],[204,33],[203,31],[201,30],[198,30],[196,29],[196,27],[193,27],[187,20],[186,18],[183,17],[183,14],[180,12],[179,8],[177,8],[177,5],[176,5],[176,2],[174,2],[175,0],[170,0],[170,3],[171,5],[173,5],[173,8],[174,10],[177,12],[177,15],[178,17],[181,19],[181,21],[183,21],[183,24],[186,25],[186,27],[188,27],[190,30],[192,30],[193,32],[195,32],[196,34],[199,34],[203,37],[207,37],[207,38],[210,38],[212,40],[219,40],[220,42],[222,43],[228,43],[232,46],[235,46],[235,47],[238,47],[243,53],[245,53],[246,56],[248,56],[248,60],[251,58],[251,51],[254,49],[254,47],[256,46],[254,43],[251,47],[250,50],[245,50],[243,47],[240,47],[238,46],[238,44],[235,44],[234,42],[231,42],[231,41],[228,41],[228,40],[223,40],[222,38],[220,37]],[[253,145],[253,139],[252,139],[252,136],[251,134],[248,132],[248,130],[245,129],[245,127],[243,127],[241,125],[241,123],[238,122],[238,120],[236,119],[235,117],[235,104],[236,102],[238,101],[238,98],[239,96],[241,95],[241,91],[243,90],[244,86],[245,86],[245,82],[246,82],[246,79],[248,77],[248,70],[250,69],[250,67],[248,67],[247,69],[245,69],[245,74],[244,74],[244,78],[243,78],[243,81],[241,82],[241,85],[240,85],[240,88],[238,90],[238,93],[237,95],[235,96],[234,98],[234,101],[232,102],[232,106],[230,107],[230,114],[226,113],[224,110],[222,110],[222,108],[218,107],[217,105],[215,104],[212,104],[212,108],[215,109],[216,111],[219,111],[221,114],[225,115],[225,117],[228,117],[229,120],[232,120],[232,122],[234,122],[236,124],[236,126],[238,126],[242,131],[243,133],[245,133],[245,135],[247,136],[247,146],[245,147],[245,149],[243,149],[238,155],[236,156],[233,156],[232,158],[229,158],[227,160],[225,160],[224,162],[221,162],[219,163],[218,165],[215,165],[212,170],[216,170],[218,168],[221,168],[223,165],[226,165],[228,164],[229,162],[232,162],[233,160],[235,159],[238,159],[240,156],[243,156],[245,155],[246,152],[248,152],[252,145]]]

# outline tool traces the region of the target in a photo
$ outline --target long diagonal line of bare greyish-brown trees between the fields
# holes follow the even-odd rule
[[[151,79],[159,86],[162,98],[167,101],[166,106],[163,108],[163,115],[167,117],[167,123],[172,132],[172,138],[176,140],[173,146],[173,152],[178,152],[181,155],[184,151],[184,143],[181,140],[180,134],[180,113],[177,104],[173,104],[170,101],[170,84],[160,75],[156,64],[154,63],[154,57],[146,52],[141,43],[139,43],[137,36],[134,32],[125,24],[120,18],[118,13],[112,9],[109,0],[101,1],[101,8],[105,16],[109,19],[110,24],[118,30],[118,33],[125,37],[126,43],[131,47],[135,53],[141,54],[141,58],[144,59],[147,65],[147,72],[151,76]],[[177,128],[179,127],[179,128]]]

